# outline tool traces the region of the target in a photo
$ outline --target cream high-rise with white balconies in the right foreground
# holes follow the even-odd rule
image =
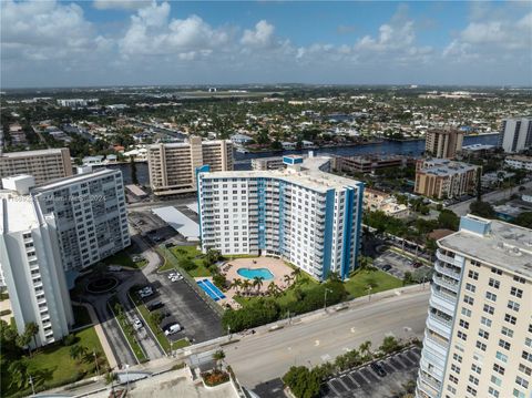
[[[438,241],[418,398],[530,398],[532,231],[468,215]]]

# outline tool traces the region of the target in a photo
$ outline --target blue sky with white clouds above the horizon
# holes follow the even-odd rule
[[[532,2],[0,0],[1,88],[532,85]]]

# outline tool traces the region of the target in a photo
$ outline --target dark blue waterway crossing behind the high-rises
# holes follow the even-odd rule
[[[499,136],[497,134],[489,135],[471,135],[463,139],[463,145],[485,144],[497,145]],[[332,154],[341,156],[355,155],[409,155],[419,156],[424,151],[424,140],[416,141],[383,141],[377,144],[356,145],[356,146],[336,146],[313,150],[317,155]],[[284,151],[284,152],[260,152],[260,153],[234,153],[235,170],[250,170],[252,159],[280,156],[282,154],[306,154],[308,150],[304,151]],[[120,169],[124,177],[125,184],[131,184],[131,165],[130,164],[114,164],[108,165],[108,169]],[[150,185],[150,174],[147,171],[147,163],[136,163],[136,175],[141,185]]]

